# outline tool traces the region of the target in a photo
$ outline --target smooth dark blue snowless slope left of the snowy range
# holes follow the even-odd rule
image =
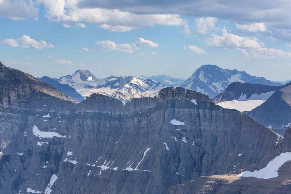
[[[68,84],[61,84],[57,82],[56,80],[49,78],[47,76],[43,76],[39,78],[40,81],[43,81],[49,85],[52,85],[59,91],[63,92],[64,94],[78,100],[79,102],[83,101],[84,98],[79,94],[74,88],[70,87]]]

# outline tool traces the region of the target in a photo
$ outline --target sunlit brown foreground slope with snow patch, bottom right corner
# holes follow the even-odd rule
[[[189,193],[290,193],[291,192],[291,128],[285,132],[284,138],[277,147],[276,152],[265,156],[260,163],[251,165],[243,171],[261,170],[267,167],[268,163],[274,158],[285,154],[288,157],[281,157],[276,163],[280,167],[269,168],[265,173],[260,173],[264,178],[238,176],[242,170],[234,171],[234,174],[213,175],[198,177],[192,181],[186,181],[184,184],[176,185],[168,190],[168,194],[189,194]],[[274,164],[272,164],[274,165]],[[276,164],[275,164],[276,165]],[[267,177],[268,173],[277,171],[277,175]],[[273,173],[274,174],[274,173]]]

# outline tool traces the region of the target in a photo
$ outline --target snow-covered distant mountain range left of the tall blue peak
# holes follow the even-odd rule
[[[161,89],[168,87],[168,85],[154,80],[142,80],[132,76],[109,76],[97,80],[88,70],[77,70],[72,75],[54,78],[54,80],[61,84],[70,85],[70,87],[76,89],[84,98],[93,93],[98,93],[117,98],[123,102],[134,97],[154,96],[157,95]]]

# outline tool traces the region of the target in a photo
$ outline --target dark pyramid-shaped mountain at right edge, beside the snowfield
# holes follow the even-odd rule
[[[262,105],[247,114],[283,135],[291,126],[291,82],[274,92]]]

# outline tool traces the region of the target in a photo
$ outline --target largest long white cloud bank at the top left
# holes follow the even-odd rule
[[[99,24],[98,27],[105,30],[124,32],[144,26],[187,25],[178,14],[135,14],[118,9],[80,8],[79,1],[37,0],[37,2],[46,7],[45,17],[48,20],[61,22],[64,27],[74,27],[68,24],[71,22],[86,22]]]

